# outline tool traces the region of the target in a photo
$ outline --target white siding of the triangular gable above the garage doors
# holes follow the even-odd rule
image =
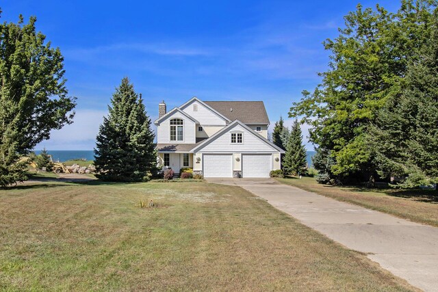
[[[243,143],[231,144],[231,133],[242,132]],[[256,137],[254,133],[244,129],[240,124],[235,124],[234,127],[228,129],[228,131],[222,133],[220,137],[216,137],[212,142],[199,149],[198,152],[279,152],[275,148],[272,148],[266,142],[263,142],[259,137]]]

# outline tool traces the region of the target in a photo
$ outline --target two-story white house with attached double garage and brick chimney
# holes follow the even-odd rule
[[[268,140],[262,101],[190,101],[170,111],[159,103],[159,165],[193,168],[204,177],[269,177],[284,151]]]

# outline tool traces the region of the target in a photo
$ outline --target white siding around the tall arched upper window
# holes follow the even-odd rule
[[[172,118],[181,118],[184,121],[184,141],[170,141],[170,120]],[[196,129],[197,131],[197,129]],[[168,116],[166,120],[158,124],[157,127],[158,144],[194,144],[196,143],[195,123],[190,118],[184,116],[178,111]]]

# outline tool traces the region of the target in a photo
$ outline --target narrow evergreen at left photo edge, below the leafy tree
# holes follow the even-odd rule
[[[1,88],[5,90],[5,88]],[[3,94],[2,94],[3,96]],[[0,98],[0,187],[25,181],[26,163],[18,154],[18,106],[8,98]]]

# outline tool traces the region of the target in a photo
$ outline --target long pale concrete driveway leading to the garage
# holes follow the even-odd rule
[[[243,187],[347,248],[368,254],[413,286],[438,291],[438,228],[339,202],[271,178],[207,181]]]

